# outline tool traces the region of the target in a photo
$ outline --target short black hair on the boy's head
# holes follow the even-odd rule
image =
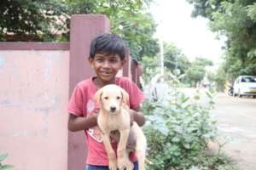
[[[115,34],[102,34],[90,42],[90,58],[96,54],[119,54],[120,59],[125,59],[125,42]]]

